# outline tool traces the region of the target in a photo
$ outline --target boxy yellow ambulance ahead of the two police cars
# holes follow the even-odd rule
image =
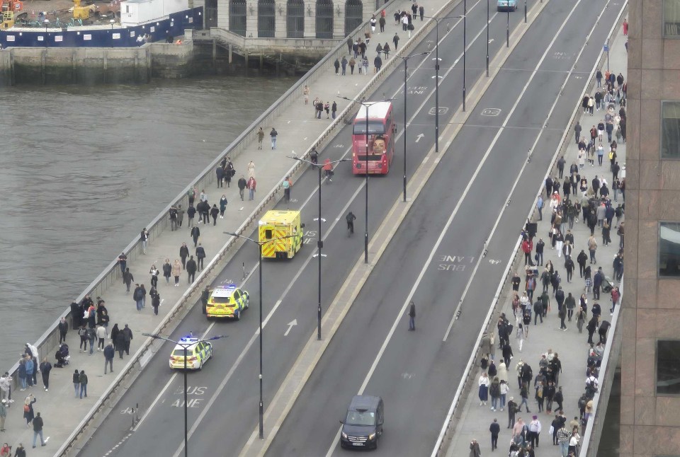
[[[272,209],[259,221],[263,259],[290,259],[302,248],[300,212]]]

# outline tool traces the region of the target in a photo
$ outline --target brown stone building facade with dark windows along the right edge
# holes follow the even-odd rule
[[[620,455],[680,456],[680,0],[629,7]]]

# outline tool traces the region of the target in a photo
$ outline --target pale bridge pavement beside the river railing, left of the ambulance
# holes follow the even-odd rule
[[[426,6],[426,15],[432,16],[439,8],[446,4],[446,0],[433,0]],[[338,112],[344,110],[348,101],[339,98],[338,95],[353,98],[360,93],[366,83],[370,81],[373,73],[373,58],[375,57],[375,47],[378,41],[381,43],[390,42],[392,46],[392,37],[395,32],[399,33],[401,42],[399,49],[405,45],[408,40],[407,33],[402,32],[401,25],[395,25],[392,13],[397,10],[410,11],[412,5],[411,1],[401,1],[393,5],[386,16],[385,32],[378,33],[380,28],[376,28],[376,33],[370,45],[368,46],[367,55],[370,62],[369,74],[358,74],[357,71],[353,75],[347,69],[346,76],[336,76],[334,69],[331,67],[326,71],[327,75],[319,77],[310,87],[309,105],[305,105],[304,98],[300,96],[297,103],[290,105],[288,109],[280,114],[278,120],[273,122],[273,125],[266,125],[263,128],[266,130],[266,137],[263,141],[263,149],[258,150],[257,144],[254,142],[250,144],[247,149],[234,158],[234,168],[236,175],[232,180],[231,187],[217,188],[216,182],[212,187],[205,189],[208,194],[208,202],[210,204],[218,204],[222,194],[226,195],[229,204],[225,212],[224,219],[217,219],[217,226],[211,224],[200,224],[200,239],[203,248],[208,258],[205,259],[205,264],[217,254],[217,252],[225,245],[227,236],[223,231],[235,231],[243,224],[247,216],[261,203],[262,198],[265,197],[269,190],[283,180],[285,173],[293,166],[293,160],[287,156],[291,155],[291,151],[296,151],[297,154],[303,154],[314,141],[322,134],[324,129],[332,120],[327,120],[324,115],[322,119],[314,118],[314,107],[312,100],[314,98],[321,98],[324,103],[333,103],[338,105]],[[425,22],[419,19],[413,21],[416,30]],[[363,38],[363,34],[362,34]],[[349,57],[349,54],[347,54]],[[394,56],[394,53],[390,54]],[[383,55],[384,57],[384,55]],[[392,59],[394,57],[390,57]],[[340,90],[342,93],[340,93]],[[271,149],[268,132],[271,127],[276,127],[278,131],[278,141],[276,149]],[[253,161],[255,164],[254,176],[257,181],[258,192],[253,201],[248,200],[248,193],[246,190],[245,201],[242,202],[239,198],[239,191],[237,187],[237,180],[241,175],[248,176],[248,163]],[[198,190],[199,192],[201,189]],[[295,190],[293,189],[293,197],[295,197]],[[198,199],[197,199],[198,202]],[[198,221],[198,216],[196,217]],[[132,222],[137,224],[142,229],[143,221]],[[179,248],[182,243],[188,245],[190,254],[195,255],[196,250],[193,248],[193,241],[189,235],[189,228],[186,216],[184,217],[183,226],[177,231],[165,231],[162,236],[154,239],[149,243],[147,254],[142,257],[145,262],[128,263],[130,271],[135,277],[134,284],[145,284],[147,291],[151,288],[149,270],[152,265],[156,265],[159,270],[162,270],[162,265],[166,258],[174,262],[179,258]],[[171,283],[173,279],[171,278]],[[130,294],[125,293],[125,286],[120,284],[109,288],[103,295],[106,300],[106,307],[108,308],[109,316],[111,316],[111,323],[109,328],[113,328],[115,323],[118,323],[120,329],[123,329],[125,324],[130,325],[133,332],[132,344],[130,345],[130,354],[135,354],[137,349],[142,346],[145,337],[142,332],[152,332],[167,313],[173,308],[174,303],[179,301],[181,296],[188,289],[188,276],[186,272],[181,274],[181,287],[173,287],[172,284],[166,284],[164,277],[159,277],[159,294],[163,299],[162,306],[159,308],[159,316],[154,316],[153,308],[150,306],[150,299],[147,297],[146,307],[142,313],[137,313],[135,301],[132,300],[132,291]],[[94,299],[94,297],[93,297]],[[191,329],[188,329],[191,330]],[[110,340],[107,340],[107,344]],[[45,438],[49,437],[48,445],[40,446],[30,450],[30,456],[50,456],[61,446],[64,441],[72,434],[79,422],[86,417],[87,413],[96,403],[96,400],[111,386],[115,376],[123,369],[122,364],[128,364],[131,356],[125,356],[124,360],[118,358],[116,354],[113,361],[113,374],[103,374],[104,357],[102,352],[95,351],[94,354],[89,355],[86,352],[79,352],[79,336],[74,330],[69,330],[67,335],[67,344],[69,345],[71,353],[71,363],[64,369],[52,369],[50,374],[50,390],[45,392],[42,388],[42,381],[38,376],[38,386],[28,388],[26,391],[12,391],[12,399],[15,403],[11,404],[8,409],[5,429],[6,432],[0,434],[0,442],[8,442],[16,449],[19,443],[23,443],[24,447],[30,450],[33,440],[32,427],[28,427],[26,420],[23,419],[23,400],[30,393],[35,395],[37,403],[35,403],[35,412],[40,412],[45,422],[44,434]],[[17,354],[23,352],[23,348],[17,348]],[[40,354],[40,358],[47,357],[52,364],[55,363],[54,354]],[[74,370],[84,370],[88,375],[89,383],[87,386],[87,398],[82,400],[74,398],[74,388],[72,385],[72,374]],[[129,405],[126,405],[129,406]]]

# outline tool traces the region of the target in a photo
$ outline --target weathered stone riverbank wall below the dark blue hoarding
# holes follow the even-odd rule
[[[9,47],[0,51],[0,87],[51,84],[143,84],[193,74],[192,30],[181,45],[140,47]]]

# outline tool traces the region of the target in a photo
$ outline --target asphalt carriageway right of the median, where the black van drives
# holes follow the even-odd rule
[[[357,393],[385,400],[385,433],[376,455],[423,456],[432,451],[519,229],[587,83],[599,43],[618,14],[608,3],[584,47],[584,37],[606,4],[548,3],[399,227],[268,455],[346,452],[337,446],[338,420]],[[483,62],[482,53],[472,48],[470,66]],[[570,74],[574,64],[576,72]],[[500,112],[489,116],[484,111],[489,108]],[[526,163],[537,137],[532,161]],[[489,254],[472,276],[487,238]],[[444,342],[470,282],[460,319]],[[417,307],[416,332],[407,331],[411,298]]]

